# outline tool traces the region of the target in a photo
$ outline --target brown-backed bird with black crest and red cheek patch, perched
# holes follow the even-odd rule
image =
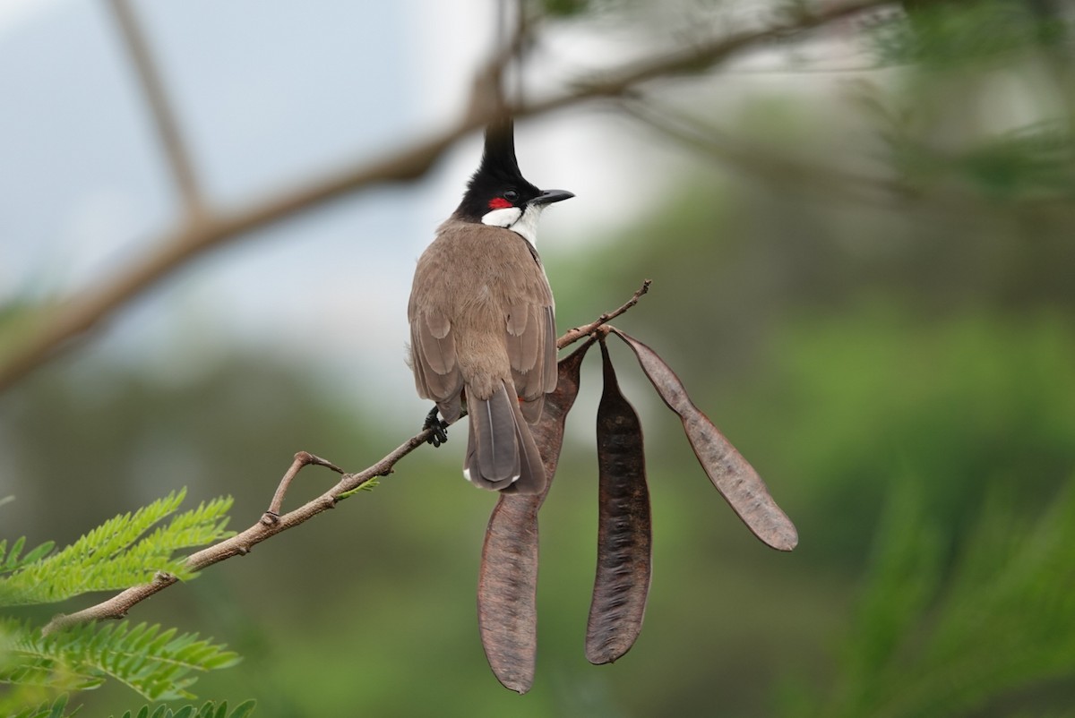
[[[535,239],[542,212],[572,197],[524,178],[514,121],[500,117],[415,267],[408,363],[418,396],[436,402],[426,426],[446,441],[465,406],[463,476],[492,491],[538,494],[547,483],[530,425],[556,389],[556,308]]]

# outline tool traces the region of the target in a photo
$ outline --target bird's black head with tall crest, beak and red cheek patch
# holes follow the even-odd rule
[[[467,193],[456,210],[457,217],[482,221],[493,210],[529,204],[547,204],[571,197],[570,192],[543,192],[526,181],[515,159],[515,127],[512,119],[490,123],[485,129],[485,150],[482,164],[467,185]]]

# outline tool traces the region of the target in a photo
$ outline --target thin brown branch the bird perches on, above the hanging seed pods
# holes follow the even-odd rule
[[[646,293],[648,289],[649,279],[646,279],[643,283],[642,288],[634,292],[634,296],[632,296],[627,303],[614,312],[606,312],[605,314],[602,314],[598,317],[597,321],[592,321],[583,328],[572,329],[557,341],[557,347],[563,348],[572,342],[578,341],[587,333],[593,334],[594,332],[602,330],[606,321],[613,317],[619,316],[637,304],[639,298]],[[220,561],[230,559],[233,556],[246,556],[250,552],[250,549],[255,545],[260,544],[262,541],[271,538],[277,533],[297,527],[300,523],[304,523],[309,519],[328,511],[329,508],[334,508],[340,501],[348,498],[362,487],[368,487],[370,483],[374,482],[378,476],[387,476],[392,473],[396,462],[405,457],[407,454],[414,451],[419,446],[427,444],[432,435],[432,428],[422,429],[417,434],[396,447],[395,450],[381,459],[381,461],[356,474],[344,473],[343,470],[331,462],[321,459],[320,457],[316,457],[307,451],[299,451],[295,455],[295,460],[291,462],[291,465],[288,466],[288,470],[284,473],[284,477],[281,479],[280,485],[276,487],[276,491],[269,504],[269,508],[261,515],[258,522],[245,531],[231,536],[230,538],[225,538],[209,548],[203,548],[200,551],[191,554],[187,557],[186,568],[195,573],[206,566],[211,566],[214,563],[219,563]],[[343,476],[335,486],[316,499],[307,501],[295,511],[281,515],[280,511],[283,506],[284,498],[287,494],[287,490],[290,487],[291,482],[300,471],[309,465],[327,466],[336,473],[343,474]],[[154,593],[162,591],[169,586],[178,583],[178,580],[180,579],[172,574],[158,573],[154,579],[147,584],[132,586],[131,588],[120,591],[111,599],[89,606],[88,608],[83,608],[82,611],[77,611],[73,614],[60,614],[56,616],[42,629],[42,633],[47,635],[48,633],[68,628],[70,626],[76,626],[78,623],[85,623],[94,620],[124,618],[127,616],[127,612],[134,605],[145,601]]]

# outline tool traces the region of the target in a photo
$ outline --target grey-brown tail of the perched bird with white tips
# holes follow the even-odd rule
[[[491,491],[545,490],[545,465],[511,383],[502,383],[488,399],[475,399],[468,391],[467,414],[470,435],[463,476]]]

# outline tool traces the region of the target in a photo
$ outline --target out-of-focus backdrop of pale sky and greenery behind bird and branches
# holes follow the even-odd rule
[[[0,368],[56,302],[183,222],[119,4],[0,2]],[[622,660],[583,656],[593,353],[542,513],[531,693],[502,689],[482,652],[496,497],[462,480],[457,429],[374,492],[135,608],[243,655],[200,698],[255,698],[267,717],[1075,715],[1073,8],[866,4],[814,23],[761,0],[526,2],[508,73],[540,101],[757,33],[521,119],[516,144],[528,178],[577,195],[539,243],[561,331],[653,279],[615,324],[765,477],[799,547],[749,535],[614,346],[655,521],[646,624]],[[517,11],[132,5],[220,216],[453,127]],[[220,243],[10,382],[0,536],[66,544],[183,486],[191,503],[234,496],[242,529],[296,451],[358,471],[415,433],[411,275],[479,154],[464,133],[412,182]],[[307,469],[288,504],[333,482]],[[141,704],[123,687],[84,698],[94,716]]]

